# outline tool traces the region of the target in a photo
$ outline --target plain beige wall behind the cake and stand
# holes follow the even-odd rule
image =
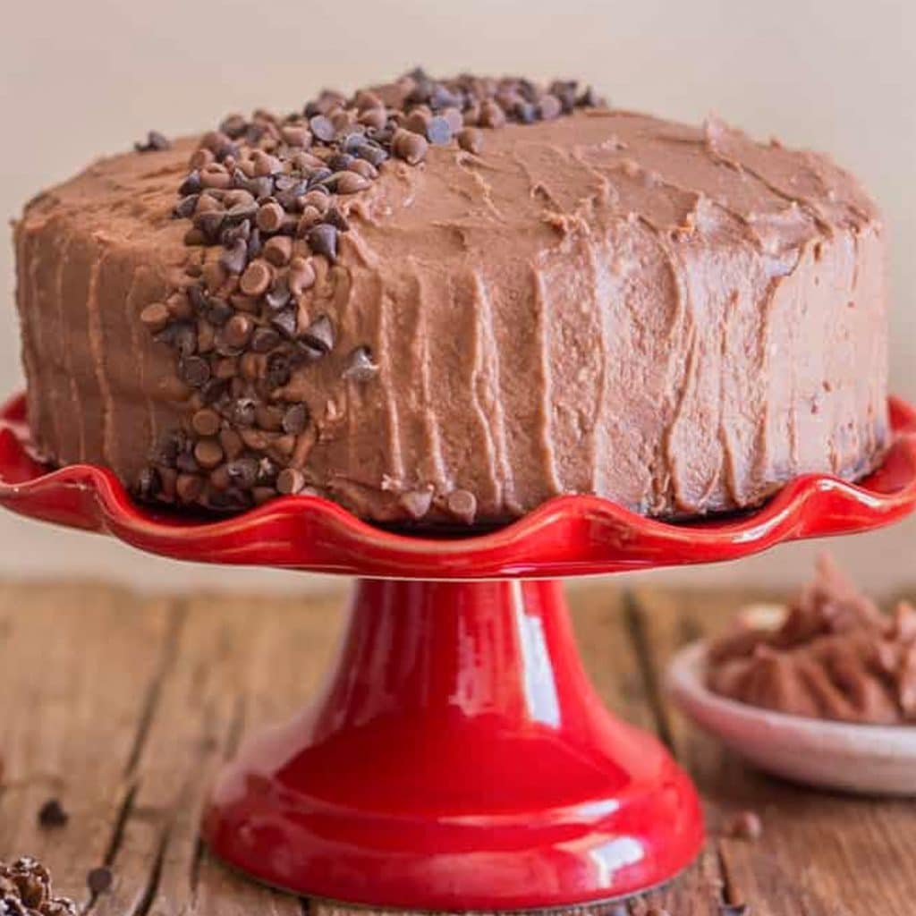
[[[0,214],[156,127],[231,109],[299,105],[424,63],[451,72],[580,75],[616,104],[819,147],[855,170],[889,224],[893,384],[916,398],[916,5],[903,0],[2,0]],[[20,383],[13,266],[0,245],[0,391]],[[916,580],[916,523],[836,543],[863,581]],[[814,548],[699,578],[798,578]],[[158,561],[106,540],[0,515],[0,573],[110,574],[151,585],[204,579],[302,587],[313,579]]]

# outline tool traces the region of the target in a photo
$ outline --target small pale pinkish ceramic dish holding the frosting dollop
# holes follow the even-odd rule
[[[856,725],[760,709],[708,690],[705,671],[704,642],[682,649],[668,671],[674,702],[759,769],[825,789],[916,795],[916,725]]]

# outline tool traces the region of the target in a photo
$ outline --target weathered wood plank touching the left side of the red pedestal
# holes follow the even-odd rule
[[[99,916],[276,911],[300,903],[243,882],[202,850],[198,823],[215,769],[251,725],[304,703],[324,671],[340,614],[334,602],[203,595],[163,682],[136,769],[137,791]]]

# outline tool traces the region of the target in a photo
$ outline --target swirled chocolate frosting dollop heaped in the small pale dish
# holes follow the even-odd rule
[[[882,613],[829,557],[778,627],[739,618],[712,643],[707,685],[781,713],[873,725],[916,723],[916,610]]]

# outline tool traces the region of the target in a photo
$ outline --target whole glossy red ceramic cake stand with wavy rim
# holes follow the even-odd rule
[[[358,576],[339,659],[288,725],[222,773],[213,852],[280,888],[410,910],[517,910],[624,897],[703,840],[690,781],[588,682],[553,577],[733,560],[877,528],[916,506],[916,409],[860,485],[807,475],[739,518],[671,525],[565,496],[491,533],[409,537],[311,496],[202,521],[137,507],[114,475],[29,454],[0,411],[0,504],[179,560]]]

